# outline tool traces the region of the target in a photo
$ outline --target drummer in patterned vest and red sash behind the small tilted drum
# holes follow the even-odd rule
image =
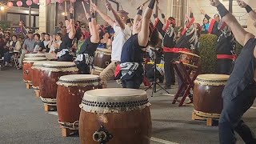
[[[186,28],[182,31],[181,38],[178,39],[178,42],[175,45],[175,48],[172,49],[174,53],[174,60],[176,60],[179,56],[180,52],[191,52],[198,50],[198,39],[201,33],[201,26],[198,23],[194,23],[194,15],[192,10],[190,9],[190,18],[187,22]],[[178,87],[182,86],[182,80],[178,78]],[[185,90],[181,92],[182,96],[185,93]],[[193,102],[193,97],[190,94],[190,102]]]

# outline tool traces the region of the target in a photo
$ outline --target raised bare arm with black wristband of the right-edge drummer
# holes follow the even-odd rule
[[[223,6],[223,4],[219,2],[219,0],[210,0],[210,4],[217,7],[218,12],[222,17],[222,20],[226,22],[228,26],[230,26],[234,37],[242,46],[245,46],[246,42],[250,38],[254,38],[253,34],[246,32],[246,30],[242,28],[242,26],[238,23],[238,20],[234,18],[234,15],[230,14],[230,12],[226,10],[226,7]]]

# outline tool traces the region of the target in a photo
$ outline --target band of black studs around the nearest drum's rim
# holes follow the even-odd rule
[[[134,101],[134,102],[94,102],[87,101],[82,99],[82,104],[86,106],[95,106],[95,107],[135,107],[135,106],[143,106],[149,102],[149,99],[145,99],[142,101]]]

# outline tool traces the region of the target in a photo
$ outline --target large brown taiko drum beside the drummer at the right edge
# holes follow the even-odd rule
[[[198,116],[218,118],[222,113],[222,91],[230,76],[201,74],[194,81],[194,112]]]

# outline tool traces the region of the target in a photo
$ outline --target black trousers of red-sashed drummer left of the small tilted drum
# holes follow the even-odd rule
[[[175,82],[175,75],[174,75],[174,64],[172,63],[174,59],[173,53],[164,53],[164,70],[165,70],[165,77],[166,77],[166,86],[170,86],[172,83]]]

